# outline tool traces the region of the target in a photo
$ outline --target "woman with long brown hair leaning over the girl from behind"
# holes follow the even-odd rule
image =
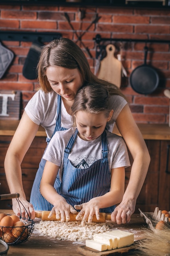
[[[98,79],[91,72],[82,50],[67,38],[53,40],[43,47],[38,63],[38,79],[41,89],[27,104],[5,157],[4,166],[10,192],[20,193],[20,201],[32,219],[35,218],[32,203],[35,210],[38,207],[48,209],[39,189],[45,160],[40,162],[31,192],[32,203],[29,203],[22,186],[22,159],[39,125],[45,128],[48,142],[57,130],[71,128],[71,106],[77,90],[86,83],[99,83],[108,88],[110,101],[113,101],[113,122],[107,129],[112,132],[116,123],[134,159],[124,197],[111,216],[117,224],[129,222],[148,171],[150,156],[124,95],[115,85]],[[28,218],[25,209],[21,206],[20,213],[18,202],[13,200],[16,215]]]

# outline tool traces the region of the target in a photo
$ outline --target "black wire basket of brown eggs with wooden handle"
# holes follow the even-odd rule
[[[18,204],[20,200],[16,198]],[[20,202],[22,204],[22,202]],[[19,204],[20,206],[20,204]],[[23,206],[23,204],[22,204]],[[23,206],[24,207],[24,206]],[[25,207],[24,207],[25,209]],[[25,209],[26,211],[26,209]],[[21,212],[21,209],[20,209]],[[26,211],[27,212],[27,211]],[[28,214],[28,213],[27,213]],[[11,216],[10,214],[6,214],[6,216]],[[29,215],[28,215],[29,216]],[[19,223],[20,222],[20,223]],[[13,225],[13,226],[0,226],[0,239],[6,242],[8,245],[18,245],[20,243],[26,242],[31,234],[33,233],[34,229],[34,221],[30,218],[22,218],[19,217],[19,221],[16,224],[20,225]]]

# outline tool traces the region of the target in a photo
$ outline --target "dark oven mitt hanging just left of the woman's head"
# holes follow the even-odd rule
[[[22,69],[22,74],[26,79],[37,79],[38,74],[36,68],[39,61],[42,46],[43,44],[38,40],[35,40],[31,45],[31,48],[29,50],[29,53],[26,57]]]

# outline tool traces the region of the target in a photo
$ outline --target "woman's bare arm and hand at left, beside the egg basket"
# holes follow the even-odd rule
[[[35,124],[26,114],[23,113],[20,123],[18,125],[17,130],[13,136],[13,139],[9,145],[7,150],[7,154],[4,161],[4,168],[7,177],[7,182],[9,185],[9,189],[11,193],[19,193],[20,194],[20,201],[24,205],[26,211],[29,214],[29,217],[32,219],[35,218],[35,213],[33,210],[32,204],[30,204],[26,200],[26,196],[24,193],[23,185],[22,185],[22,170],[21,170],[21,163],[24,155],[26,154],[27,150],[29,149],[36,132],[38,131],[38,125]],[[24,210],[24,207],[20,207],[16,199],[13,199],[13,211],[17,216],[26,217],[27,213]]]

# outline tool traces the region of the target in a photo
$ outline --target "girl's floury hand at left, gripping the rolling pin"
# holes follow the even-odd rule
[[[51,218],[53,214],[55,214],[55,218],[57,220],[61,220],[61,222],[68,222],[70,220],[70,212],[71,213],[77,213],[77,211],[66,202],[65,199],[60,200],[57,202],[56,205],[52,208],[48,218]]]

